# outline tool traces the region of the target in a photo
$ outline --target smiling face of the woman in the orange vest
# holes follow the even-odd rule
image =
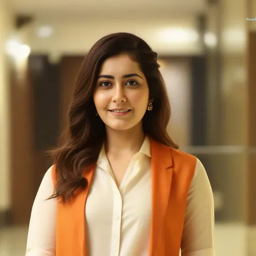
[[[93,100],[106,127],[124,131],[142,125],[149,103],[149,86],[138,63],[125,53],[106,59]]]

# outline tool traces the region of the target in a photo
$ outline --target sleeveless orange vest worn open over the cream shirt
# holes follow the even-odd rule
[[[150,147],[152,218],[149,256],[179,256],[187,195],[197,158],[151,138]],[[90,256],[86,255],[85,207],[94,171],[95,165],[85,170],[89,187],[75,200],[63,205],[58,199],[56,256]],[[54,168],[52,178],[56,184]]]

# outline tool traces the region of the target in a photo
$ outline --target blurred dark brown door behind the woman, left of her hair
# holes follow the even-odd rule
[[[56,147],[67,125],[67,111],[73,85],[84,57],[64,56],[60,63],[43,61],[41,76],[33,79],[34,143],[33,194],[35,195],[45,172],[53,164],[46,152]]]

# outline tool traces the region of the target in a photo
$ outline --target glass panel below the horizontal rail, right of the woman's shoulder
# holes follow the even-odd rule
[[[215,222],[242,223],[245,220],[246,154],[235,152],[235,147],[215,147],[220,153],[211,152],[211,147],[204,147],[205,153],[199,149],[191,147],[184,151],[196,156],[205,166],[214,193]]]

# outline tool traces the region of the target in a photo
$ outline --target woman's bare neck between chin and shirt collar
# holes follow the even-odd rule
[[[133,127],[126,131],[112,130],[106,128],[105,151],[112,156],[123,154],[135,154],[142,147],[145,134],[142,125]]]

